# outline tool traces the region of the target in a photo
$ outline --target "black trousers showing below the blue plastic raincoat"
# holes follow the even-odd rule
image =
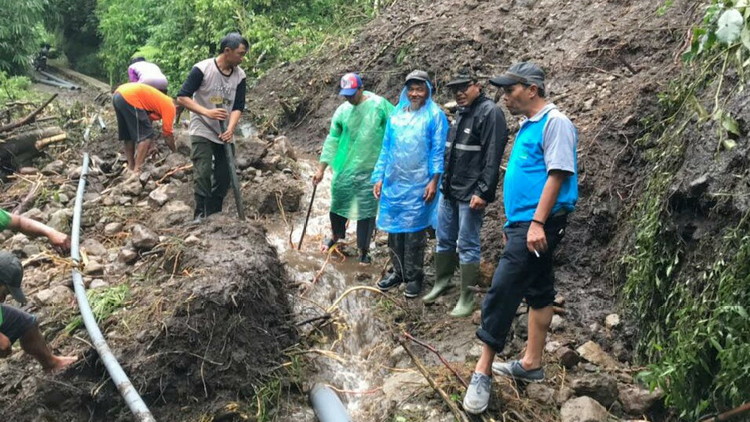
[[[388,233],[388,249],[396,276],[407,283],[424,278],[426,232]]]

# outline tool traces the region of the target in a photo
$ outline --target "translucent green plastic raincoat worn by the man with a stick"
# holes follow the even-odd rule
[[[359,105],[345,102],[331,119],[331,131],[323,144],[320,162],[333,171],[331,212],[349,220],[377,215],[378,201],[372,194],[372,170],[380,155],[385,125],[393,104],[365,91]]]

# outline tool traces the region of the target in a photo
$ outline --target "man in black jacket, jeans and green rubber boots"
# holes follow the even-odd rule
[[[469,73],[459,73],[447,86],[459,109],[445,144],[435,285],[423,300],[434,302],[449,287],[454,269],[460,266],[461,296],[451,315],[462,317],[474,310],[470,287],[479,281],[479,232],[484,209],[495,200],[508,126],[503,112]]]

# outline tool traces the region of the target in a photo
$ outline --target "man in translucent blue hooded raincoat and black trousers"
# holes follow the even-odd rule
[[[432,101],[427,72],[411,72],[388,119],[371,180],[373,193],[380,199],[377,226],[388,233],[393,266],[378,282],[382,291],[404,282],[408,298],[422,290],[425,229],[437,220],[435,197],[447,134],[448,119]]]

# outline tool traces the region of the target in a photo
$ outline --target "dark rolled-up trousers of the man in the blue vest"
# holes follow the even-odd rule
[[[532,309],[545,308],[555,300],[552,254],[565,235],[567,218],[550,217],[547,220],[544,225],[547,251],[540,252],[538,258],[526,247],[529,225],[529,222],[521,222],[505,227],[508,243],[482,303],[482,324],[477,337],[497,353],[505,347],[516,309],[524,297]]]

